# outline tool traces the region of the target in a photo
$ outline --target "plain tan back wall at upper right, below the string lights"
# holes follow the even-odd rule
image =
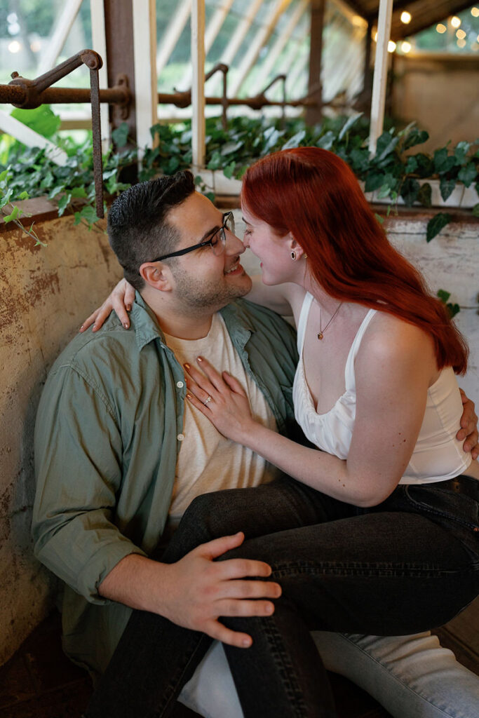
[[[475,141],[479,127],[479,57],[394,55],[392,115],[429,132],[412,152],[433,152],[452,141]]]

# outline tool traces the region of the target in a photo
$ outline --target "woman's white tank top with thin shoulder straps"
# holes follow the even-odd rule
[[[303,345],[307,318],[312,304],[312,294],[304,297],[299,314],[298,353],[299,363],[294,376],[294,414],[307,439],[318,448],[340,459],[348,457],[355,420],[356,386],[354,363],[364,332],[376,309],[370,309],[364,317],[345,366],[343,396],[326,414],[317,414],[310,388],[304,376]],[[446,367],[437,381],[427,390],[426,411],[416,446],[404,476],[399,483],[422,484],[444,481],[458,476],[470,465],[471,454],[462,451],[462,442],[455,435],[460,428],[462,401],[452,367]]]

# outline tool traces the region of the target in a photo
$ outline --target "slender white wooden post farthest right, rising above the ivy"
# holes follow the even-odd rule
[[[380,0],[378,17],[378,39],[374,60],[373,98],[371,101],[371,125],[369,130],[369,151],[376,154],[376,143],[383,132],[384,105],[388,79],[388,43],[391,33],[393,0]]]

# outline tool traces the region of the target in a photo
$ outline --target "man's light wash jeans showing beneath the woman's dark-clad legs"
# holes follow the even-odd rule
[[[325,668],[367,691],[394,718],[479,717],[479,677],[429,631],[312,635]],[[243,718],[221,643],[213,643],[178,700],[205,718]]]

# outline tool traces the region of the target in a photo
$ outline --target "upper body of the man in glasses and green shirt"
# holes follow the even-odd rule
[[[273,477],[185,401],[182,364],[207,348],[218,368],[240,379],[261,421],[284,433],[293,424],[294,332],[273,312],[235,301],[251,280],[230,222],[195,192],[188,172],[124,192],[108,232],[138,290],[132,330],[111,316],[102,332],[75,337],[39,406],[35,552],[67,584],[65,651],[95,677],[131,608],[246,647],[248,635],[218,617],[268,615],[281,590],[248,580],[269,575],[261,561],[213,561],[241,535],[172,564],[150,558],[162,555],[195,496]]]

